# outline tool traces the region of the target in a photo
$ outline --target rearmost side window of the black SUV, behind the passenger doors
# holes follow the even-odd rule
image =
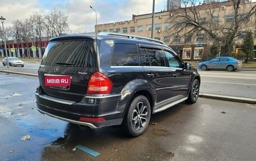
[[[139,62],[135,44],[115,44],[111,66],[139,66]]]

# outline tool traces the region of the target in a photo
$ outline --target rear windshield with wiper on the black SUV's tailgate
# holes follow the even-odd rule
[[[42,65],[95,67],[93,41],[51,42],[45,49]]]

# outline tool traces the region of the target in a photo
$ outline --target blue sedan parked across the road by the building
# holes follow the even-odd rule
[[[242,67],[242,61],[233,57],[216,57],[209,61],[199,63],[199,69],[205,70],[227,70],[234,71]]]

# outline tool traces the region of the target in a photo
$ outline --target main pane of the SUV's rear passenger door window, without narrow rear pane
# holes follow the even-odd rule
[[[148,55],[150,66],[165,67],[164,57],[160,49],[145,49]]]

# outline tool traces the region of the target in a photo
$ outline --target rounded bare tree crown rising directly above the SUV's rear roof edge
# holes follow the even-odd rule
[[[68,30],[67,16],[54,8],[49,15],[45,16],[44,25],[48,36],[61,36]]]

